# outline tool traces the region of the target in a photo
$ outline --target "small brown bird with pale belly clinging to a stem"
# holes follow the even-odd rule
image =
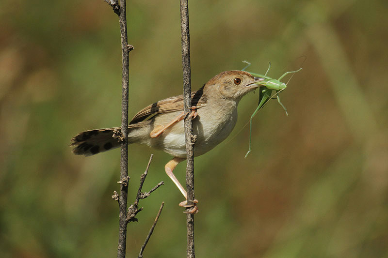
[[[209,152],[228,137],[237,121],[237,105],[249,91],[259,87],[263,78],[243,71],[226,71],[210,79],[201,89],[192,92],[193,131],[197,136],[194,156]],[[165,172],[177,185],[186,201],[187,193],[173,174],[179,162],[186,159],[183,119],[183,95],[158,101],[138,112],[129,122],[128,144],[146,144],[174,156],[165,165]],[[71,139],[77,155],[90,156],[120,147],[113,137],[121,127],[84,131]],[[196,200],[194,202],[197,202]],[[194,210],[195,211],[195,210]]]

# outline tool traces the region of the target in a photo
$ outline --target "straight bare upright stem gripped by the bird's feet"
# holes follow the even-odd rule
[[[182,68],[183,68],[183,95],[184,95],[184,112],[190,113],[191,104],[191,69],[190,69],[190,33],[189,33],[189,6],[188,0],[180,0],[180,31],[182,43]],[[186,167],[186,188],[187,204],[193,205],[194,200],[194,142],[192,119],[186,116],[185,141],[187,152]],[[191,208],[186,208],[189,211]],[[187,213],[187,257],[194,258],[194,214]]]

